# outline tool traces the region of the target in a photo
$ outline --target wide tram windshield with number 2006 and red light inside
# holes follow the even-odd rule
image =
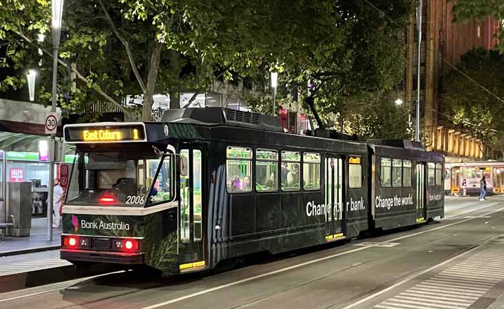
[[[172,163],[171,156],[154,149],[78,151],[66,204],[143,206],[170,201]]]

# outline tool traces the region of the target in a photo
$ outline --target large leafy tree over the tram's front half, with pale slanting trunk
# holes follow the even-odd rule
[[[35,5],[30,0],[16,2]],[[36,4],[47,17],[47,1]],[[231,72],[254,76],[279,59],[293,67],[330,54],[346,32],[339,26],[343,17],[338,10],[339,3],[329,0],[295,0],[289,6],[280,0],[68,0],[63,12],[61,70],[70,67],[79,80],[76,93],[67,100],[61,97],[60,102],[78,111],[99,98],[119,105],[126,94],[140,94],[142,118],[150,120],[156,93],[176,98],[184,89],[208,89],[215,72],[228,79]],[[25,22],[30,18],[21,17]],[[37,29],[19,27],[16,21],[8,21],[3,29],[10,33],[8,41],[21,37],[32,42],[19,47],[20,52],[36,50]],[[42,30],[48,31],[47,18]],[[49,41],[43,45],[50,50]],[[50,89],[48,83],[48,78],[43,79],[42,92]],[[59,88],[66,89],[65,83],[68,78],[61,80]],[[49,98],[48,93],[41,95],[42,100]]]

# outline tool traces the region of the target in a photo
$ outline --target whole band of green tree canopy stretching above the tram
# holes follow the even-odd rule
[[[59,102],[79,113],[90,102],[118,105],[126,95],[140,95],[142,118],[149,120],[154,94],[177,100],[180,91],[209,89],[218,74],[267,83],[269,71],[277,70],[283,85],[299,86],[302,99],[308,76],[325,72],[333,77],[321,86],[317,109],[351,115],[349,103],[362,93],[381,96],[401,79],[399,28],[406,27],[413,4],[375,1],[384,16],[365,1],[67,0]],[[0,77],[0,87],[21,87],[24,68],[42,60],[39,101],[48,104],[52,43],[40,43],[48,52],[39,56],[35,42],[39,32],[49,34],[50,3],[3,1],[0,17],[0,40],[9,45],[0,63],[12,73]]]

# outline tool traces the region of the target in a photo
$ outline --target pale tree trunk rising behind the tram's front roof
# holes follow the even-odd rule
[[[163,43],[156,40],[154,52],[152,52],[149,63],[149,76],[147,76],[147,85],[143,94],[142,121],[152,120],[152,103],[154,103],[154,94],[156,92],[156,81],[158,80],[159,63]]]

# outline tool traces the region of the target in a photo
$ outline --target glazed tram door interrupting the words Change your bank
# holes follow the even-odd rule
[[[337,156],[328,156],[325,160],[325,204],[326,204],[326,239],[343,233],[343,160]],[[337,236],[336,236],[337,237]]]

